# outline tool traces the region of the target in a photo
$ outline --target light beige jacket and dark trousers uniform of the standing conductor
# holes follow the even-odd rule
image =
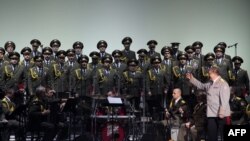
[[[228,83],[218,76],[213,83],[201,83],[195,78],[190,82],[198,89],[207,92],[207,118],[208,118],[208,140],[218,140],[218,132],[222,133],[226,118],[230,116],[230,88]],[[219,118],[222,115],[224,118]],[[221,126],[219,126],[221,125]]]

